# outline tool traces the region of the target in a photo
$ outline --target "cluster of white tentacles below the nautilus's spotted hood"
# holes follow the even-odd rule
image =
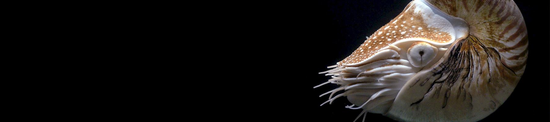
[[[359,119],[361,115],[366,115],[367,112],[385,114],[401,87],[416,74],[417,69],[408,60],[399,59],[399,54],[393,49],[379,53],[394,54],[384,54],[388,57],[360,66],[328,66],[327,68],[333,69],[319,73],[327,73],[326,75],[331,75],[332,79],[313,88],[326,84],[339,85],[338,88],[319,96],[322,97],[330,93],[328,100],[322,103],[321,106],[326,103],[332,104],[334,99],[346,96],[354,104],[346,106],[346,108],[364,109],[354,121]],[[344,92],[335,95],[339,91]],[[363,121],[365,121],[365,118],[363,118]]]

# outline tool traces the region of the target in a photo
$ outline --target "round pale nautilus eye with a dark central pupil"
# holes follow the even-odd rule
[[[407,58],[411,65],[415,67],[426,66],[436,57],[437,48],[427,42],[415,42],[407,51]]]

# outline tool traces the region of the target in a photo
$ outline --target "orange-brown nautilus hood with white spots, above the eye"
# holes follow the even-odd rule
[[[377,52],[405,44],[423,41],[445,47],[458,38],[466,37],[468,25],[463,19],[442,13],[423,1],[413,1],[397,18],[382,26],[339,65],[354,66],[379,59]],[[398,50],[398,49],[394,49]]]

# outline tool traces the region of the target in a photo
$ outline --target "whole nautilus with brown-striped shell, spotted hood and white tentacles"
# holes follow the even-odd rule
[[[326,84],[346,108],[398,121],[477,121],[506,101],[524,73],[527,30],[514,1],[416,0],[350,56]],[[323,106],[321,104],[321,106]],[[354,121],[355,121],[354,120]],[[365,118],[363,118],[365,120]]]

